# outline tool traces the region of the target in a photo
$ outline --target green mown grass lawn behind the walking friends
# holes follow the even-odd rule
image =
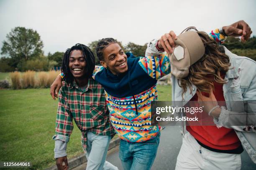
[[[158,100],[171,100],[171,86],[159,85],[158,92]],[[51,138],[58,101],[49,93],[49,89],[0,90],[0,161],[29,161],[32,169],[55,164]],[[68,159],[83,152],[80,137],[74,125]]]

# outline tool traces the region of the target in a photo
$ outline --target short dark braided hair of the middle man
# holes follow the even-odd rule
[[[118,43],[114,38],[102,38],[96,47],[96,54],[100,61],[104,61],[103,50],[112,43]]]

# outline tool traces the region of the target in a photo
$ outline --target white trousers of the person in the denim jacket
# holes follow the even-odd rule
[[[175,170],[217,169],[240,170],[241,155],[217,153],[202,148],[195,138],[187,133],[182,141]]]

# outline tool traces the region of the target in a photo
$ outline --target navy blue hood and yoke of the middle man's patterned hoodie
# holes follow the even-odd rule
[[[138,95],[156,85],[157,80],[150,77],[139,65],[140,57],[128,52],[128,71],[122,75],[114,75],[110,70],[103,69],[95,75],[97,80],[113,97],[128,97]]]

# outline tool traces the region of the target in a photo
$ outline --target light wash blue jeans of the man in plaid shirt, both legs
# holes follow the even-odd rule
[[[110,140],[111,136],[87,133],[86,170],[118,170],[117,167],[105,161]]]

